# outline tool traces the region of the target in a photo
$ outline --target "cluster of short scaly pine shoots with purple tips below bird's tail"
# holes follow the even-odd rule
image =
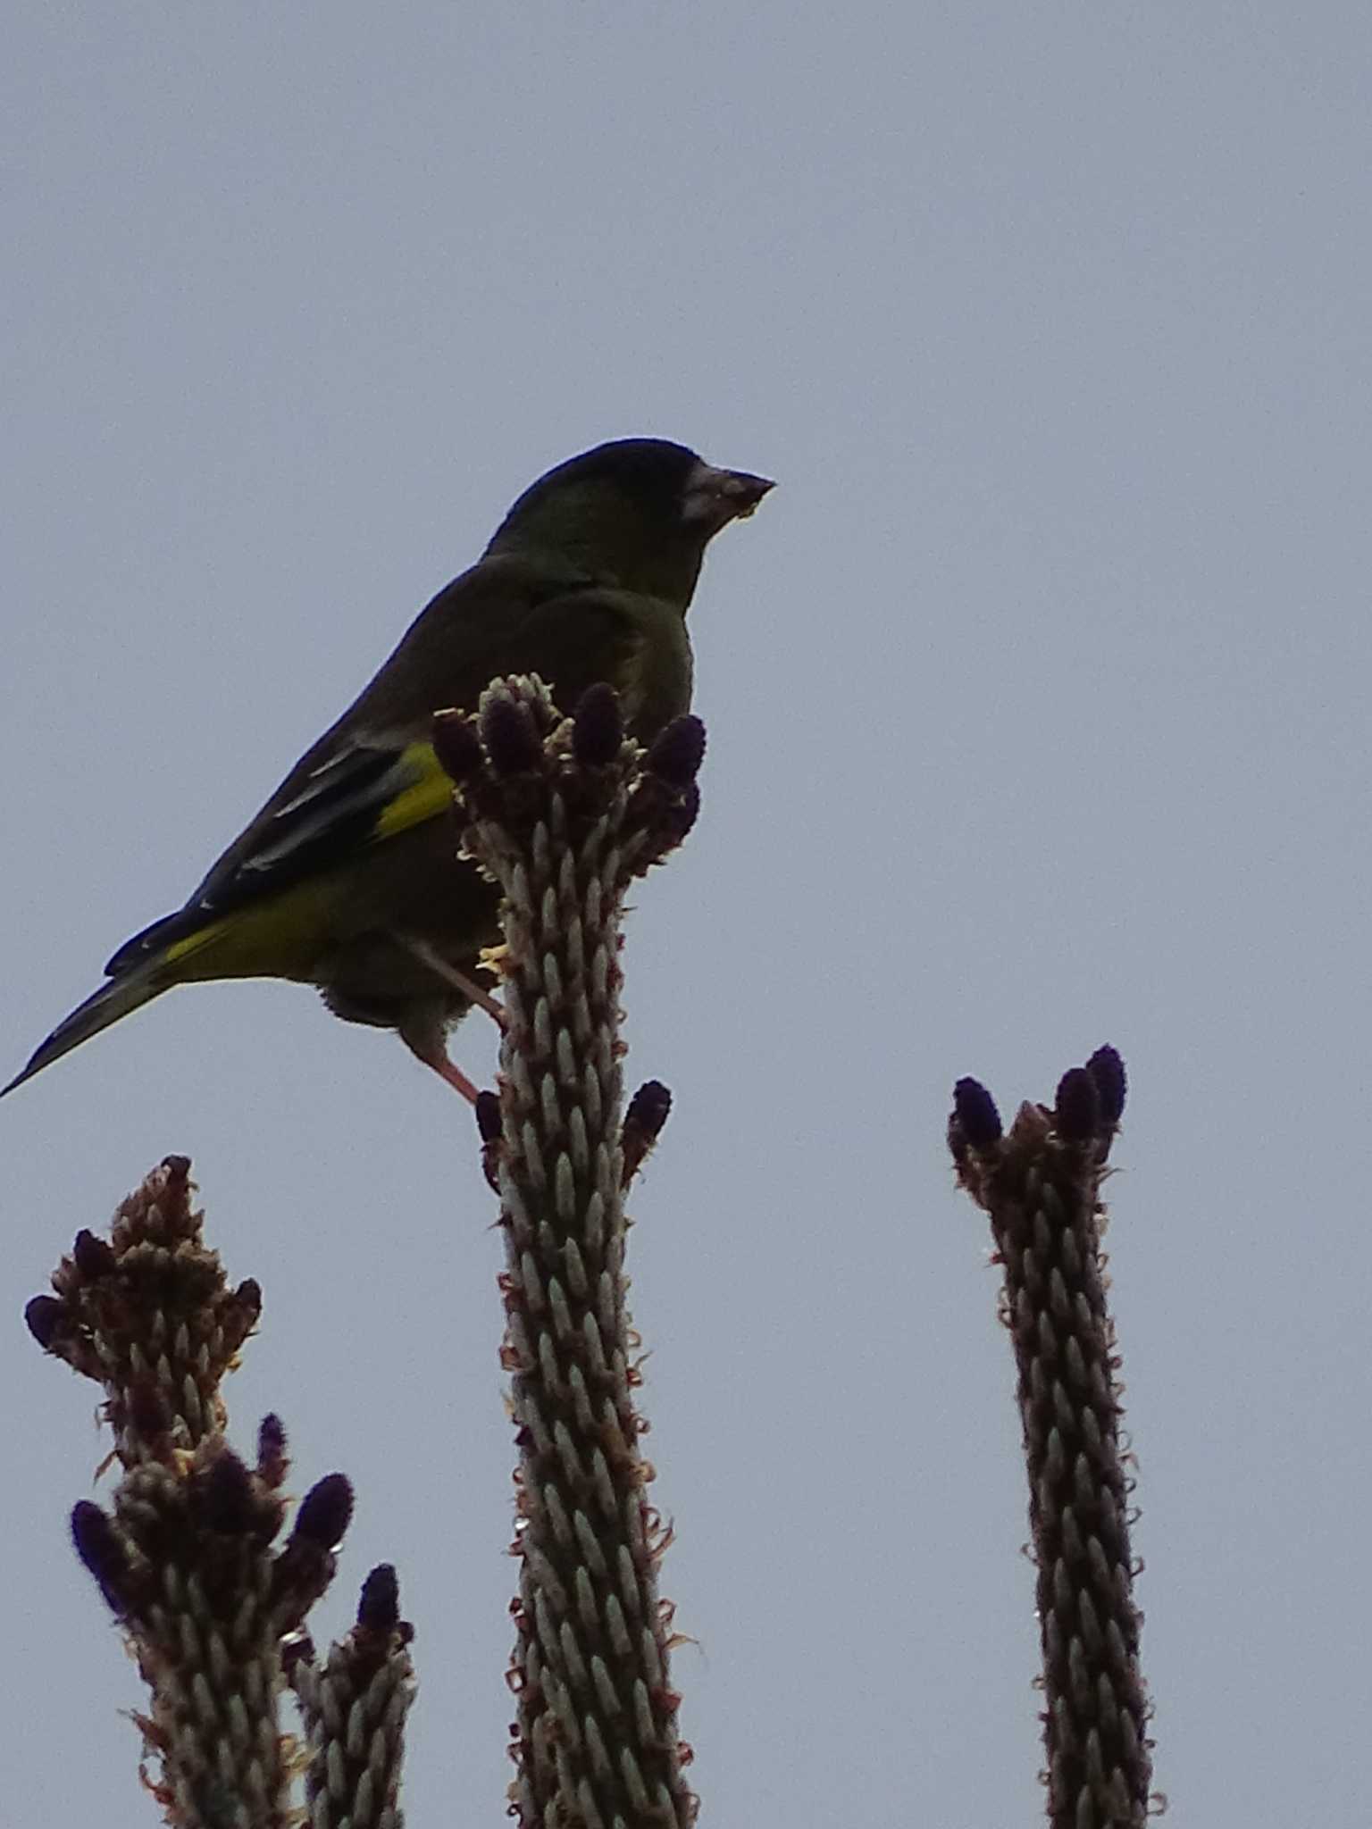
[[[399,1829],[413,1681],[393,1571],[373,1571],[357,1630],[315,1672],[302,1622],[333,1580],[351,1487],[342,1474],[316,1481],[273,1549],[287,1513],[285,1432],[269,1416],[249,1465],[229,1447],[220,1394],[262,1293],[229,1288],[190,1194],[188,1160],[168,1156],[123,1202],[110,1240],[79,1233],[53,1273],[57,1293],[26,1310],[38,1344],[104,1388],[123,1474],[110,1511],[75,1507],[71,1535],[152,1692],[135,1717],[145,1783],[174,1829],[285,1829],[300,1820],[291,1789],[304,1765],[311,1829]],[[278,1721],[287,1659],[305,1697],[305,1754]],[[366,1672],[360,1714],[320,1699],[349,1659]]]

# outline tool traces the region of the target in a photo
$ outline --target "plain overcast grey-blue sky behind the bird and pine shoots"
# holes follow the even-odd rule
[[[942,1134],[959,1074],[1010,1114],[1101,1041],[1156,1781],[1178,1824],[1365,1816],[1370,84],[1339,0],[5,27],[5,1074],[549,463],[659,433],[781,481],[706,563],[704,816],[627,951],[629,1072],[677,1094],[631,1269],[706,1824],[1041,1811]],[[488,1079],[494,1033],[457,1054]],[[97,1394],[20,1310],[168,1150],[265,1291],[238,1443],[276,1408],[295,1491],[357,1487],[316,1635],[399,1566],[408,1818],[501,1822],[472,1123],[274,984],[0,1107],[4,1818],[155,1814],[68,1546]]]

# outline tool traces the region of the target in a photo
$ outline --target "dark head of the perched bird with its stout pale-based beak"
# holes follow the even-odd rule
[[[532,483],[487,551],[571,560],[684,611],[710,540],[768,488],[763,476],[719,470],[668,439],[613,439]]]

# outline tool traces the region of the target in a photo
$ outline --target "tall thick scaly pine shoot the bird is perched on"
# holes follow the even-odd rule
[[[512,1805],[525,1829],[686,1825],[657,1591],[670,1531],[646,1496],[624,1275],[624,1191],[668,1096],[649,1083],[624,1112],[618,949],[629,883],[695,818],[704,733],[679,719],[644,754],[607,686],[563,719],[538,680],[510,679],[476,719],[445,715],[435,744],[463,849],[505,900],[499,1094],[477,1119],[520,1447]]]

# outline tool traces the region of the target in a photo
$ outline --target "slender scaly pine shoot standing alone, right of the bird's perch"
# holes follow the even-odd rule
[[[975,1079],[953,1094],[962,1187],[991,1220],[1019,1374],[1043,1644],[1052,1829],[1138,1829],[1152,1741],[1140,1674],[1120,1447],[1120,1359],[1101,1257],[1101,1180],[1125,1103],[1114,1048],[1065,1074],[1054,1108],[1002,1132]]]

